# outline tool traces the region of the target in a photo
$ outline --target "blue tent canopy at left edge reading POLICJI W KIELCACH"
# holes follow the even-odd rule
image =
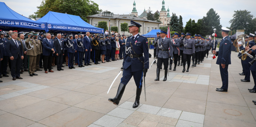
[[[4,31],[38,31],[46,30],[45,23],[28,19],[10,9],[4,2],[0,2],[0,29]]]

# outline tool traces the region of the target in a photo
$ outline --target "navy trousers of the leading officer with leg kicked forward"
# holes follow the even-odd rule
[[[121,83],[126,85],[130,79],[132,78],[135,81],[135,84],[137,88],[142,87],[142,78],[143,78],[143,70],[132,72],[131,66],[129,66],[127,69],[123,70],[123,77],[121,78]]]

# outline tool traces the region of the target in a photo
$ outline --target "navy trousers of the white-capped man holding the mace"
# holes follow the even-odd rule
[[[228,65],[225,65],[225,68],[220,65],[220,76],[222,80],[221,89],[228,90]]]

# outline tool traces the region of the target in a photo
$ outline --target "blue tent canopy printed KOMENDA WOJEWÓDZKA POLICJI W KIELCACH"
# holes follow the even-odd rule
[[[77,31],[77,32],[93,32],[104,33],[104,29],[94,27],[79,16],[63,14],[49,11],[44,17],[37,20],[46,23],[47,32],[49,30],[57,31]]]

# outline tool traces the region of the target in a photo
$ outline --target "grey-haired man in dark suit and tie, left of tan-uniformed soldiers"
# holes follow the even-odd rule
[[[21,42],[17,40],[18,33],[11,32],[11,40],[7,41],[6,49],[8,50],[8,55],[10,57],[11,62],[11,75],[12,80],[23,79],[20,77],[20,65],[23,57],[23,50],[21,46]]]

